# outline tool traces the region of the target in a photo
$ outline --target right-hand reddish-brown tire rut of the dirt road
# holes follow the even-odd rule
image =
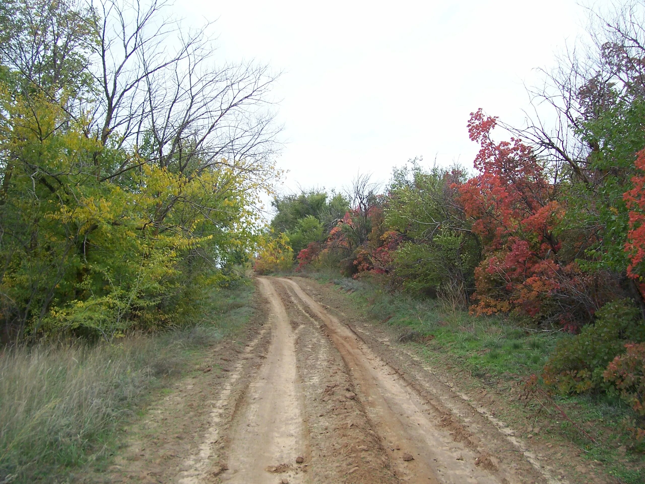
[[[455,442],[436,414],[397,372],[291,279],[279,279],[324,323],[386,448],[395,474],[410,483],[508,483],[503,472],[477,467],[477,454]],[[411,459],[412,458],[412,459]]]

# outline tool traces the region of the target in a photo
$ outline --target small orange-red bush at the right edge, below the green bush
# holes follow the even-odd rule
[[[609,392],[619,395],[645,420],[645,344],[628,343],[626,352],[611,361],[603,376],[610,383]],[[643,425],[636,429],[637,438],[645,439]]]

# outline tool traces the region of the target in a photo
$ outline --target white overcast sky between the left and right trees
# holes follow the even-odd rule
[[[598,2],[600,4],[605,2]],[[222,59],[283,71],[275,85],[288,170],[283,190],[341,188],[392,166],[472,166],[470,112],[522,123],[524,83],[584,33],[575,0],[203,1],[188,23],[217,20]]]

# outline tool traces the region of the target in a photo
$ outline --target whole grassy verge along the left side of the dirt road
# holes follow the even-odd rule
[[[252,295],[213,291],[195,325],[163,334],[0,350],[0,484],[66,482],[104,460],[150,390],[244,326]]]

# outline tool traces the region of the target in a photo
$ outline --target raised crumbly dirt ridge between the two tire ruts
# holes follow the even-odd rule
[[[307,312],[288,285],[275,287],[297,327],[296,357],[310,430],[310,482],[399,483],[326,327]]]

